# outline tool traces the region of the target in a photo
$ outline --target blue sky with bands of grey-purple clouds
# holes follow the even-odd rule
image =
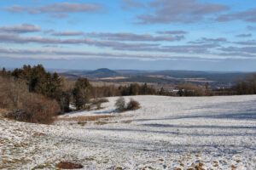
[[[0,16],[0,67],[256,71],[255,0],[8,0]]]

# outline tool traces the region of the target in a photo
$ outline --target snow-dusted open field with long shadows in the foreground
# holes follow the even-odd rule
[[[51,126],[0,118],[0,169],[256,169],[256,95],[132,98],[140,110],[115,113],[109,98]],[[71,121],[105,114],[113,117]]]

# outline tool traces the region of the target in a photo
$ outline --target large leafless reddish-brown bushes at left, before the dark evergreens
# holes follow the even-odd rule
[[[28,92],[25,82],[0,77],[0,108],[4,116],[21,122],[50,123],[60,111],[55,100]]]

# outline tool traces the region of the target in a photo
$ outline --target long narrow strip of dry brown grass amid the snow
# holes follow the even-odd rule
[[[96,115],[96,116],[75,116],[75,117],[61,117],[61,121],[76,121],[76,122],[94,122],[100,119],[107,119],[113,117],[112,115]]]

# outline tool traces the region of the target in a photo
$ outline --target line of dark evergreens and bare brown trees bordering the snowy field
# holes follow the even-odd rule
[[[232,88],[212,90],[209,84],[198,86],[191,83],[178,85],[177,92],[164,88],[157,90],[147,83],[131,83],[126,86],[94,87],[89,80],[80,77],[75,82],[60,77],[56,72],[50,73],[43,65],[23,65],[20,69],[0,71],[0,108],[17,109],[18,117],[26,117],[27,122],[39,122],[33,112],[50,115],[70,111],[70,104],[77,110],[98,105],[103,97],[129,95],[166,95],[166,96],[209,96],[230,94],[256,94],[256,74],[239,81]],[[100,108],[100,105],[97,106]],[[29,114],[24,114],[24,113]],[[12,116],[17,116],[12,115]],[[42,118],[42,117],[41,117]],[[41,119],[40,118],[40,119]],[[51,119],[48,121],[52,121]]]

